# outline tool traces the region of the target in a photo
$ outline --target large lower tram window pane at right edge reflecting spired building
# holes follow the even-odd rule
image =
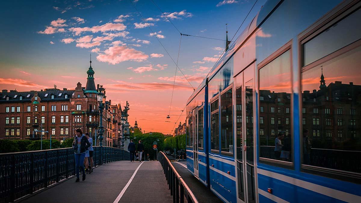
[[[305,67],[301,75],[307,112],[303,114],[303,164],[361,177],[361,47],[340,54],[312,69]],[[314,108],[319,113],[313,113]],[[319,125],[312,125],[314,120]]]

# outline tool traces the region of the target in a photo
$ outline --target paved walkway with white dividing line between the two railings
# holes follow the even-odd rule
[[[71,178],[32,195],[21,203],[113,203],[117,198],[119,199],[122,190],[123,194],[119,199],[121,203],[173,202],[162,166],[158,161],[142,162],[130,184],[127,184],[140,163],[139,161],[117,161],[102,165],[95,168],[93,173],[87,174],[85,181],[76,183],[75,178]]]

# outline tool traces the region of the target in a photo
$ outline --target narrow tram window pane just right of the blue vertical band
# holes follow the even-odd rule
[[[211,103],[210,115],[210,149],[219,151],[219,111],[218,99]]]

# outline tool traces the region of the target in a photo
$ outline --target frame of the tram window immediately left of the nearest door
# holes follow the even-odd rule
[[[233,133],[233,128],[234,128],[234,123],[233,123],[233,116],[234,116],[234,111],[233,111],[233,83],[231,83],[228,87],[226,87],[224,90],[222,90],[222,92],[219,93],[219,130],[220,130],[220,140],[221,142],[219,143],[220,147],[219,150],[221,151],[222,155],[226,155],[226,156],[233,156],[234,154],[234,133]],[[232,116],[229,118],[229,121],[232,123],[232,129],[230,129],[229,131],[232,133],[232,143],[233,143],[233,150],[232,152],[227,152],[227,151],[222,151],[222,111],[221,111],[221,107],[222,107],[222,95],[225,94],[226,92],[228,92],[229,90],[231,90],[231,111],[232,111]]]

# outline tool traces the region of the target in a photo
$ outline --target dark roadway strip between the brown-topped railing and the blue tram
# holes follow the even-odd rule
[[[179,164],[181,163],[181,164]],[[208,190],[203,183],[195,178],[185,167],[187,162],[172,162],[175,170],[182,176],[184,182],[187,183],[188,187],[192,190],[192,193],[196,196],[200,203],[223,203],[212,191]],[[183,165],[182,165],[183,164]]]

